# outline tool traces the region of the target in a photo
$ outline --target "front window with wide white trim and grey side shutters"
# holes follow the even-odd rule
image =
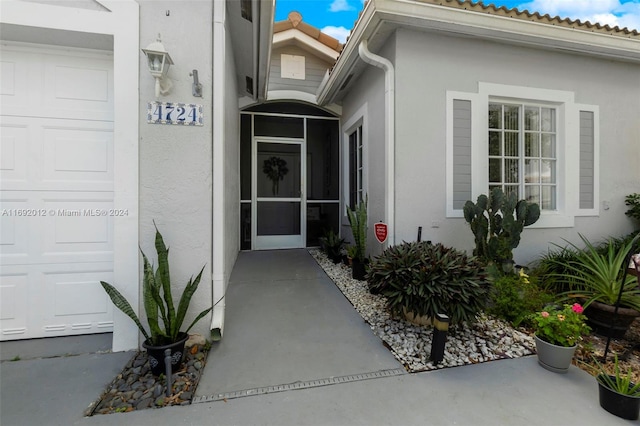
[[[563,90],[479,83],[447,92],[447,217],[493,188],[537,203],[533,227],[597,216],[599,110]]]

